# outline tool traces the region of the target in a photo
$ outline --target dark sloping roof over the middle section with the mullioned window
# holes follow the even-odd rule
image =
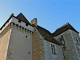
[[[43,28],[43,27],[41,27],[41,26],[37,26],[36,27],[37,28],[37,30],[40,32],[40,34],[47,40],[47,41],[50,41],[50,42],[53,42],[53,43],[55,43],[55,44],[58,44],[58,45],[60,45],[51,35],[51,33],[48,31],[48,30],[46,30],[45,28]]]

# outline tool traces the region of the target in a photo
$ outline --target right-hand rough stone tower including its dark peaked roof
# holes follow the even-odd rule
[[[79,32],[69,23],[58,28],[53,36],[62,44],[64,60],[80,60]]]

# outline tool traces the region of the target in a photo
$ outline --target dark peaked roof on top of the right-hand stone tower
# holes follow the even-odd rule
[[[53,36],[57,36],[61,33],[63,33],[64,31],[71,29],[77,33],[79,33],[76,29],[74,29],[68,22],[66,24],[64,24],[63,26],[59,27],[58,29],[56,29],[56,31],[54,33],[52,33]]]

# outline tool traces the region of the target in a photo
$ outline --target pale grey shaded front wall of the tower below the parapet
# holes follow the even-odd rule
[[[32,60],[32,32],[11,23],[7,60]]]

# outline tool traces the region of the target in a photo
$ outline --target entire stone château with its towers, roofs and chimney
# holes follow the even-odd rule
[[[37,18],[11,14],[0,28],[0,60],[80,60],[79,32],[66,23],[51,33]]]

